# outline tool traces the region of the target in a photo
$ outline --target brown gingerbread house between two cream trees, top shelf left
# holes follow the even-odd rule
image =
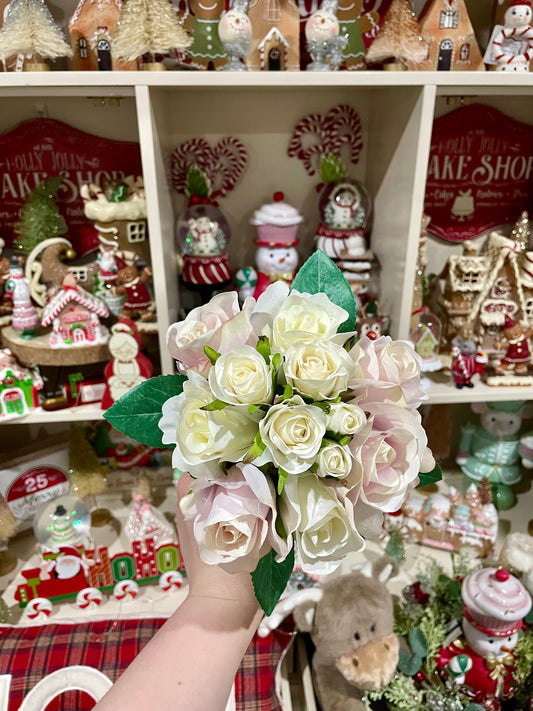
[[[121,7],[121,0],[80,0],[69,22],[73,69],[138,69],[136,61],[126,62],[111,55],[111,36]]]

